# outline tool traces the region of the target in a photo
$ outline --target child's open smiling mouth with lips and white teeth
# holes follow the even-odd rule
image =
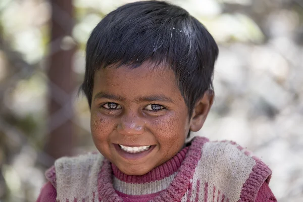
[[[114,144],[118,154],[124,159],[137,160],[147,156],[156,145],[146,146],[125,146],[121,144]]]

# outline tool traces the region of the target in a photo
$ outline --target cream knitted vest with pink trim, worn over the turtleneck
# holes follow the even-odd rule
[[[185,175],[178,176],[177,174],[175,178],[179,178],[179,181],[174,179],[171,189],[168,188],[169,191],[164,191],[154,201],[255,201],[261,185],[265,180],[269,182],[270,169],[234,142],[197,143],[201,141],[200,138],[193,140],[190,147],[196,147],[196,150],[191,151],[189,148],[179,169],[179,172]],[[194,154],[195,151],[199,151],[200,154]],[[193,174],[190,176],[186,174],[186,172],[190,173],[187,171],[190,168],[185,164],[190,165],[190,161],[194,161],[191,155],[197,155],[198,159],[195,167],[192,168]],[[112,187],[112,176],[109,176],[111,171],[108,171],[107,175],[100,175],[100,173],[105,173],[106,169],[111,169],[109,165],[108,160],[104,160],[100,154],[61,158],[55,163],[56,178],[50,179],[51,172],[49,171],[46,172],[46,176],[57,189],[57,201],[122,201]],[[182,195],[178,196],[173,192],[177,192],[180,179],[184,178],[184,183],[186,183],[186,176],[190,176],[188,179],[190,185],[188,188],[185,186],[187,190],[180,191]],[[99,188],[98,184],[103,182],[104,184]],[[184,183],[179,183],[180,187],[183,187]],[[99,197],[100,193],[107,197],[103,195]]]

